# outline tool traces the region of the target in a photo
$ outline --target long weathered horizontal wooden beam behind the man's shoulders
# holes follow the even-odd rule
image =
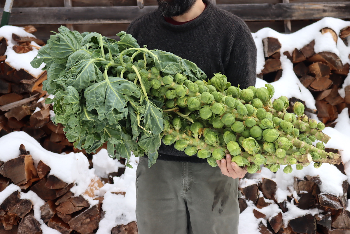
[[[9,23],[10,25],[130,23],[136,17],[151,12],[157,7],[145,6],[142,9],[138,6],[13,8]],[[219,4],[217,7],[236,14],[245,21],[311,20],[326,16],[350,18],[350,2]]]

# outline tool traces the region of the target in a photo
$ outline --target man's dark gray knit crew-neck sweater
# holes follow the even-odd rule
[[[202,14],[183,25],[166,22],[157,9],[135,19],[127,33],[133,35],[140,47],[169,51],[194,62],[208,78],[222,73],[233,86],[255,85],[257,49],[247,25],[236,15],[209,1],[205,3]],[[158,153],[158,160],[207,161],[163,143]]]

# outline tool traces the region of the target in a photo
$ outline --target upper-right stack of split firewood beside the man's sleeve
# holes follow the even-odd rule
[[[330,33],[337,43],[338,35],[334,30],[323,28],[321,33]],[[349,35],[350,26],[341,30],[339,38],[347,44],[346,37]],[[267,82],[274,82],[282,75],[281,44],[273,37],[263,39],[263,44],[266,61],[258,77]],[[350,107],[350,86],[342,87],[349,74],[350,65],[342,64],[340,58],[329,51],[316,54],[314,46],[315,41],[313,40],[300,50],[294,49],[292,54],[288,51],[283,51],[283,54],[293,63],[294,73],[300,82],[313,94],[316,100],[317,117],[326,126],[332,126],[332,121],[335,121],[338,113],[345,107]],[[341,88],[345,88],[345,98],[339,95],[338,90]]]

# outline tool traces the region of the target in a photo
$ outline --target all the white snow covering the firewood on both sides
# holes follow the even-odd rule
[[[320,30],[325,27],[332,28],[337,35],[342,28],[350,26],[349,21],[343,21],[335,18],[323,18],[312,25],[306,26],[299,31],[291,34],[278,33],[271,28],[263,28],[256,33],[252,33],[255,44],[257,45],[257,74],[261,73],[264,68],[265,57],[262,39],[265,37],[278,38],[282,47],[281,53],[281,66],[282,76],[271,84],[275,88],[274,98],[280,96],[296,97],[306,102],[306,106],[311,109],[316,109],[315,100],[310,91],[306,89],[299,81],[293,71],[293,64],[290,60],[283,55],[283,52],[288,51],[292,54],[293,50],[301,49],[311,41],[315,40],[315,52],[330,51],[337,54],[342,63],[350,63],[350,46],[345,46],[344,42],[338,38],[338,42],[335,43],[330,33],[322,34]],[[30,51],[26,54],[15,54],[12,50],[12,46],[15,43],[12,41],[12,33],[16,33],[20,36],[33,36],[26,33],[20,27],[4,26],[0,28],[0,36],[4,36],[8,39],[9,47],[7,49],[7,62],[16,69],[23,68],[29,71],[31,74],[40,74],[41,69],[33,69],[24,67],[25,63],[30,61],[36,56],[37,50]],[[348,40],[349,41],[349,40]],[[30,57],[31,56],[31,57]],[[30,57],[30,58],[29,58]],[[21,64],[21,67],[18,67]],[[30,65],[29,65],[30,66]],[[256,87],[264,87],[266,82],[257,78]],[[344,81],[343,88],[339,90],[339,94],[345,96],[345,86],[350,85],[350,74]],[[52,98],[52,97],[49,97]],[[41,100],[42,101],[42,100]],[[50,112],[51,117],[54,116],[54,112]],[[311,114],[311,118],[318,121],[317,116]],[[318,121],[319,122],[319,121]],[[328,148],[339,149],[339,153],[342,157],[342,163],[344,164],[345,174],[341,173],[334,165],[323,164],[320,168],[316,169],[313,165],[304,167],[303,170],[296,170],[296,166],[292,165],[293,171],[289,174],[283,173],[283,166],[281,169],[272,173],[267,168],[262,168],[260,174],[247,175],[246,178],[241,179],[239,186],[241,188],[261,183],[262,178],[271,179],[276,182],[277,188],[275,193],[275,199],[277,202],[286,201],[286,207],[288,211],[283,213],[279,206],[272,200],[265,199],[266,202],[271,204],[267,207],[258,209],[253,202],[247,200],[248,207],[239,216],[239,234],[259,234],[259,223],[262,222],[266,225],[267,221],[278,213],[282,213],[283,226],[287,226],[288,221],[306,214],[319,214],[321,211],[318,209],[303,210],[294,205],[292,199],[288,202],[287,198],[292,197],[299,199],[299,195],[294,190],[294,177],[304,179],[306,175],[311,177],[317,176],[322,181],[319,185],[321,193],[329,193],[335,196],[343,195],[342,183],[348,181],[350,183],[350,150],[348,144],[350,142],[350,119],[348,108],[345,108],[339,113],[336,125],[334,128],[327,127],[323,132],[331,137],[329,142],[325,144]],[[24,144],[26,150],[30,151],[33,157],[34,165],[42,160],[43,163],[50,166],[50,174],[54,174],[59,179],[62,179],[66,183],[74,183],[74,187],[71,189],[75,195],[84,194],[87,190],[92,179],[96,177],[106,177],[111,172],[117,172],[120,167],[125,167],[118,160],[113,160],[107,155],[105,149],[100,150],[97,154],[93,155],[92,162],[93,168],[89,169],[89,162],[83,153],[69,153],[69,154],[57,154],[47,151],[41,147],[41,145],[25,132],[12,132],[0,138],[0,160],[8,161],[16,158],[19,155],[19,146]],[[132,155],[130,164],[133,168],[126,167],[125,173],[120,177],[113,177],[113,184],[106,183],[94,194],[95,197],[104,197],[102,209],[105,212],[104,218],[100,220],[98,234],[110,233],[111,229],[119,224],[127,224],[131,221],[135,221],[135,207],[136,207],[136,194],[135,194],[135,173],[138,164],[138,158]],[[83,175],[83,176],[82,176]],[[0,204],[5,200],[8,195],[14,191],[21,191],[20,188],[14,184],[10,184],[5,190],[0,192]],[[117,192],[125,192],[115,194]],[[301,194],[305,191],[301,191]],[[22,199],[30,199],[34,204],[34,216],[41,223],[43,234],[58,234],[56,230],[47,227],[40,219],[40,206],[44,204],[44,201],[37,197],[37,195],[31,191],[27,193],[20,193]],[[262,197],[262,193],[259,192],[259,197]],[[84,195],[84,198],[88,199],[90,204],[96,204],[96,200],[88,198]],[[350,211],[350,199],[346,209]],[[256,219],[253,214],[253,209],[266,215],[265,218]],[[249,225],[246,225],[249,223]]]

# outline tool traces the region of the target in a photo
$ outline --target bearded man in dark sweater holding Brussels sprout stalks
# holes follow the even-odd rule
[[[208,0],[157,0],[159,8],[127,29],[140,46],[169,51],[222,73],[231,85],[255,85],[256,47],[246,24]],[[230,155],[207,160],[161,145],[157,162],[140,158],[136,176],[139,234],[238,234],[238,178],[246,170]]]

